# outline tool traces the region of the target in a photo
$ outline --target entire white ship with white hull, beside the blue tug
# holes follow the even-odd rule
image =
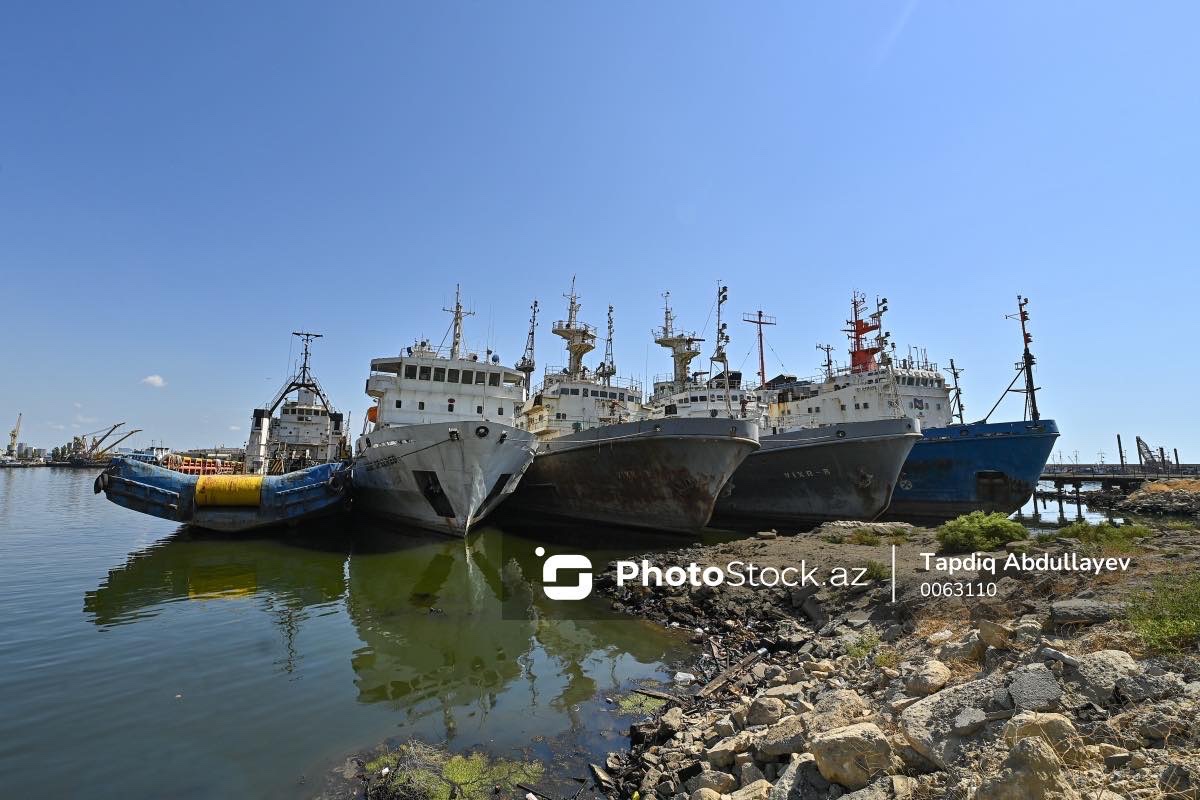
[[[376,404],[355,446],[355,505],[408,525],[456,535],[516,489],[534,456],[534,435],[515,427],[524,399],[520,372],[462,349],[455,293],[449,356],[427,341],[372,359]]]

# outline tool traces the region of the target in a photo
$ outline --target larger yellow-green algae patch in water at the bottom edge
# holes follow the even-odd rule
[[[386,775],[380,776],[383,770]],[[371,760],[371,796],[397,800],[486,800],[496,789],[511,792],[517,783],[536,783],[542,765],[488,758],[484,753],[451,756],[420,741],[408,741]]]

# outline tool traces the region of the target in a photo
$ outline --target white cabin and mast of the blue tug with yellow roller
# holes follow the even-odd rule
[[[293,331],[292,336],[304,342],[300,368],[268,405],[254,409],[244,462],[244,471],[252,475],[282,475],[349,455],[344,416],[308,367],[310,344],[322,335]]]

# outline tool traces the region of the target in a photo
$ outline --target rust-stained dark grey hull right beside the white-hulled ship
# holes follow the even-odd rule
[[[504,516],[695,533],[708,523],[738,464],[757,449],[756,422],[721,417],[570,433],[539,445]]]

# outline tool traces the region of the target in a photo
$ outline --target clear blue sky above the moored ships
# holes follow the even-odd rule
[[[1200,461],[1198,29],[1189,2],[7,4],[0,429],[240,443],[298,327],[358,429],[368,360],[440,339],[455,282],[509,362],[539,297],[562,363],[577,273],[630,375],[668,369],[665,289],[702,329],[725,279],[799,374],[853,288],[887,295],[973,414],[1025,293],[1068,458],[1122,432]]]

